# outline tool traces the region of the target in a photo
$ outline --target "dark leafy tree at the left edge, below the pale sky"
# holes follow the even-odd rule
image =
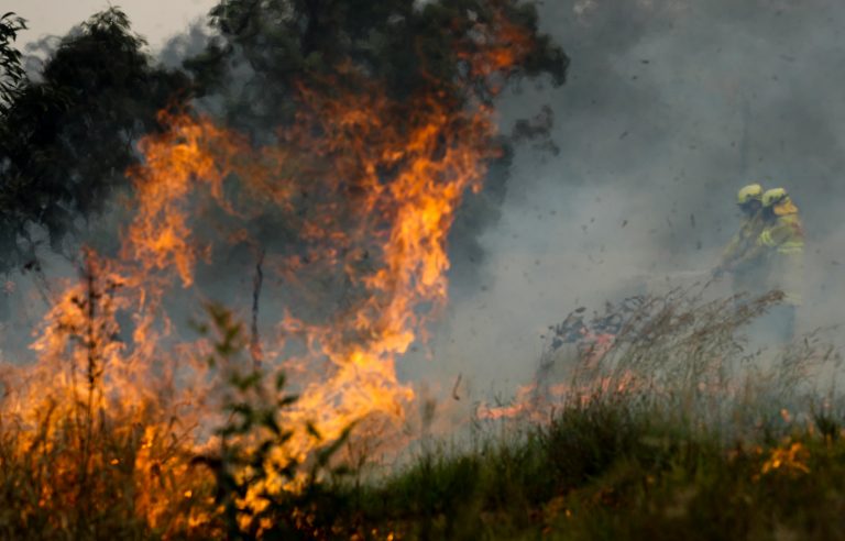
[[[3,27],[9,35],[15,26]],[[10,71],[14,91],[0,111],[0,270],[32,264],[33,225],[62,250],[67,233],[125,185],[134,142],[160,129],[157,111],[187,87],[143,47],[127,15],[111,8],[62,40],[41,80]],[[20,68],[19,54],[0,51]]]

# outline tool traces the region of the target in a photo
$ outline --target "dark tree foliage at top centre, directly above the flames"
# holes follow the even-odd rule
[[[253,128],[293,113],[296,84],[349,91],[365,73],[395,99],[440,91],[465,98],[459,82],[491,96],[490,80],[468,71],[460,55],[471,51],[480,24],[505,19],[525,29],[536,46],[512,76],[550,74],[562,84],[568,66],[563,52],[538,33],[531,3],[513,0],[222,0],[211,10],[220,37],[208,54],[186,67],[198,74],[207,91],[229,90],[231,120]],[[213,67],[213,68],[212,68]],[[209,77],[211,74],[217,78]],[[221,78],[222,77],[222,78]],[[232,81],[237,81],[234,87]]]

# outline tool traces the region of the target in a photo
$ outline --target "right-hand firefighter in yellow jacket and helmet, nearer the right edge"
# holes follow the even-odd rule
[[[782,301],[769,309],[765,322],[769,332],[783,342],[795,333],[795,312],[802,302],[804,279],[804,230],[798,207],[783,188],[762,195],[764,228],[755,246],[743,260],[765,257],[769,268],[766,290],[783,294]]]

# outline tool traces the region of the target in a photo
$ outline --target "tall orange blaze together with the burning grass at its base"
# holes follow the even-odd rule
[[[502,152],[483,79],[518,71],[536,32],[467,31],[463,75],[395,99],[341,62],[296,86],[262,143],[160,113],[128,172],[119,250],[83,251],[36,360],[6,367],[10,537],[326,534],[308,498],[342,472],[350,428],[354,449],[407,443],[415,390],[395,362],[446,305],[454,213]],[[179,305],[208,303],[198,272],[235,250],[257,262],[252,335],[212,309],[216,339],[197,339]],[[260,300],[277,314],[261,329]]]

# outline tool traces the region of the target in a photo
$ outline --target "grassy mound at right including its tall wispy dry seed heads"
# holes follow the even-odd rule
[[[550,347],[469,450],[431,443],[360,512],[399,539],[838,539],[841,358],[820,333],[750,347],[778,300],[607,307],[588,323],[618,322],[601,358]]]

